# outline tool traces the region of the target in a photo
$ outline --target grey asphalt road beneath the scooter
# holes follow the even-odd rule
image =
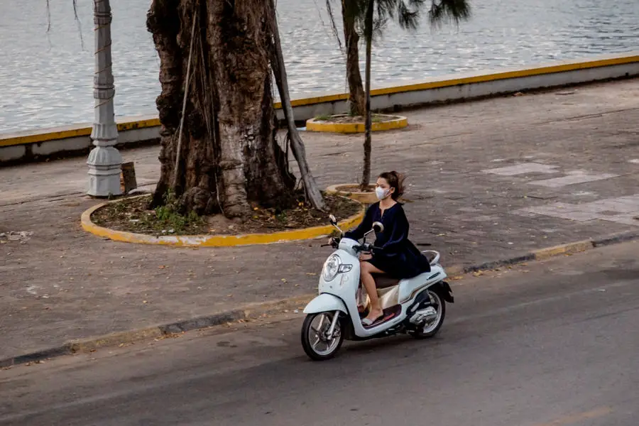
[[[16,366],[0,425],[635,426],[638,259],[630,243],[455,280],[435,339],[323,363],[290,314]]]

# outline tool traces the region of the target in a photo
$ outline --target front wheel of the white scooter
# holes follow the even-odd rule
[[[302,347],[313,361],[333,358],[344,342],[342,324],[339,320],[335,324],[333,335],[327,335],[334,315],[335,312],[309,314],[302,324]]]

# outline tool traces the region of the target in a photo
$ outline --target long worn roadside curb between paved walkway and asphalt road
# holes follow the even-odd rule
[[[639,231],[630,231],[623,234],[614,234],[599,239],[589,239],[584,241],[576,241],[573,243],[562,244],[559,246],[548,247],[547,249],[535,250],[523,256],[514,256],[498,261],[491,261],[474,266],[451,266],[446,268],[449,277],[461,275],[464,273],[473,273],[476,271],[486,271],[500,266],[516,265],[526,261],[543,261],[548,258],[560,256],[562,254],[579,253],[589,249],[596,249],[603,246],[611,246],[628,241],[639,240]],[[28,354],[13,356],[7,359],[0,359],[0,368],[26,364],[28,362],[38,362],[43,359],[54,358],[61,355],[77,354],[86,351],[93,351],[102,347],[118,346],[119,344],[133,343],[136,341],[156,339],[158,337],[188,332],[195,329],[206,327],[214,327],[229,322],[241,320],[254,320],[259,317],[280,313],[283,310],[302,309],[317,294],[300,295],[288,297],[287,299],[275,302],[253,303],[239,307],[234,310],[216,312],[212,315],[204,315],[188,320],[180,320],[167,324],[160,324],[154,327],[146,327],[134,329],[126,332],[116,332],[105,334],[99,337],[89,337],[87,339],[77,339],[61,346],[54,346],[39,351],[33,351]]]

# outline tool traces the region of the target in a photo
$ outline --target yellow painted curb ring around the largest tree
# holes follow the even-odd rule
[[[141,195],[146,197],[146,195]],[[314,239],[319,236],[329,235],[333,231],[333,226],[314,226],[312,228],[295,229],[293,231],[273,232],[272,234],[242,234],[242,235],[163,235],[151,236],[146,234],[136,234],[134,232],[116,231],[115,229],[103,228],[91,221],[91,215],[105,205],[116,202],[103,202],[91,207],[80,218],[82,229],[91,234],[102,236],[114,241],[137,244],[159,244],[163,246],[179,247],[231,247],[248,246],[254,244],[273,244],[285,241],[299,241]],[[339,222],[342,229],[350,229],[359,224],[364,219],[364,209],[348,219]]]

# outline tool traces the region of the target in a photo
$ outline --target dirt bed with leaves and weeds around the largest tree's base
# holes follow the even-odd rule
[[[239,219],[226,219],[222,215],[198,217],[195,214],[182,216],[167,212],[162,207],[148,210],[151,195],[137,198],[125,198],[107,204],[91,215],[94,224],[118,231],[138,234],[160,235],[198,235],[198,234],[271,234],[277,231],[325,226],[329,224],[328,215],[338,219],[351,217],[361,209],[361,204],[338,195],[324,194],[327,212],[319,212],[305,202],[303,195],[298,198],[295,209],[253,208],[253,215],[241,222]]]

